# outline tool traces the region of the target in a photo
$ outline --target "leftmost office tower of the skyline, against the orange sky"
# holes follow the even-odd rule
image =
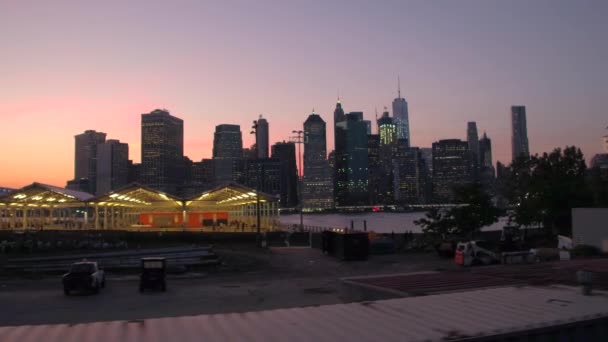
[[[73,190],[97,193],[97,145],[106,141],[106,134],[87,130],[75,137]],[[79,184],[79,185],[76,185]]]

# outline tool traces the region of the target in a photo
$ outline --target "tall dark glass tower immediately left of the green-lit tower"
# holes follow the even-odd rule
[[[368,196],[367,125],[362,112],[351,112],[336,123],[336,206],[366,205]]]

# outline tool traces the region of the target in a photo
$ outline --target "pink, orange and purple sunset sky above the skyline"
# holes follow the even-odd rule
[[[608,1],[0,0],[0,186],[64,186],[74,136],[129,143],[141,114],[184,120],[184,151],[209,158],[214,127],[259,114],[289,140],[313,108],[409,103],[411,143],[466,139],[468,121],[510,162],[510,107],[527,107],[532,153],[601,153],[608,115]]]

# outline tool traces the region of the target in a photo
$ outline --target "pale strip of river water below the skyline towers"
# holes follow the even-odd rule
[[[305,226],[350,228],[350,221],[354,221],[354,228],[363,230],[363,221],[367,221],[367,230],[376,233],[404,233],[412,231],[422,232],[422,229],[414,224],[415,220],[424,217],[424,212],[411,213],[356,213],[356,214],[304,214]],[[281,224],[300,224],[300,215],[281,215]],[[506,218],[484,227],[483,230],[500,230],[506,225]]]

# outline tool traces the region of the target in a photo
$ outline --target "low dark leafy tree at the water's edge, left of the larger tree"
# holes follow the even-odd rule
[[[473,238],[482,227],[498,221],[500,211],[480,184],[468,184],[454,189],[461,206],[449,210],[433,208],[424,218],[414,221],[425,235],[446,239],[448,235]]]

